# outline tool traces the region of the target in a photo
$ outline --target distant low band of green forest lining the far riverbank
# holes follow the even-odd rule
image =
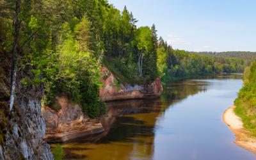
[[[157,67],[163,81],[221,72],[243,72],[246,65],[246,60],[241,58],[207,56],[196,52],[174,50],[159,38]]]

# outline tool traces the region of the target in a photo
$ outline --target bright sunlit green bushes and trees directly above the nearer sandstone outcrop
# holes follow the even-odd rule
[[[63,24],[61,43],[56,47],[56,52],[52,52],[55,54],[55,63],[49,63],[55,69],[45,75],[48,81],[45,84],[43,104],[52,106],[56,97],[67,95],[69,100],[81,104],[83,111],[95,118],[104,113],[104,104],[98,99],[98,90],[102,86],[100,62],[90,53],[86,43],[86,32],[90,27],[86,26],[88,20],[83,18],[76,23],[72,24],[75,26],[74,31],[71,24]]]

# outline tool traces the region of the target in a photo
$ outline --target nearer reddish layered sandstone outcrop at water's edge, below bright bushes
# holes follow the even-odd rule
[[[59,97],[54,105],[60,106],[60,110],[45,107],[42,111],[46,123],[45,140],[72,141],[104,131],[98,120],[90,120],[81,107],[68,102],[67,97]]]

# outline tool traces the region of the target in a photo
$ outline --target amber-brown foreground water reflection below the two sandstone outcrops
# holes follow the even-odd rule
[[[160,106],[159,99],[108,103],[108,115],[101,119],[105,132],[77,143],[64,145],[66,158],[95,157],[95,159],[100,159],[103,149],[104,152],[115,152],[111,155],[111,159],[130,159],[131,156],[152,157],[154,127]],[[92,141],[97,148],[90,147],[90,144],[84,145],[88,141]],[[99,151],[99,157],[95,151]]]

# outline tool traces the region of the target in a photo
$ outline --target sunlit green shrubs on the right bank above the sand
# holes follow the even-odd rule
[[[256,136],[256,61],[244,71],[244,86],[235,100],[235,112],[244,127]]]

